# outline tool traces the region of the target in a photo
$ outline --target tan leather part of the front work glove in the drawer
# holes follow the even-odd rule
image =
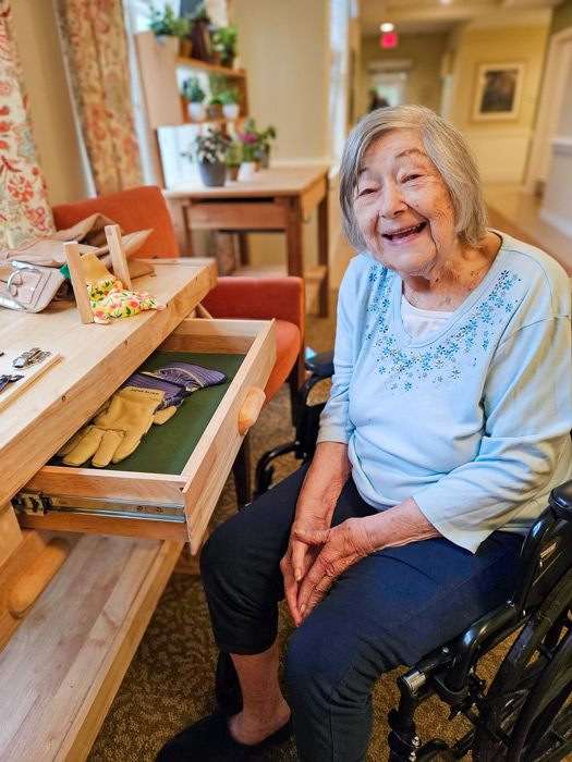
[[[124,386],[109,400],[107,409],[85,426],[58,452],[66,466],[92,465],[102,468],[120,463],[136,450],[149,430],[154,415],[163,403],[165,392]]]

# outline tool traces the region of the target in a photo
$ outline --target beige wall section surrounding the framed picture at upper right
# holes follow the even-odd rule
[[[486,181],[522,181],[547,39],[548,23],[464,30],[455,56],[449,118],[467,135]],[[516,119],[473,120],[477,72],[482,63],[524,63]]]

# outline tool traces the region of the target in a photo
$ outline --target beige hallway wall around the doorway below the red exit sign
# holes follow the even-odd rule
[[[399,45],[391,50],[379,46],[379,36],[362,38],[362,86],[361,113],[367,110],[367,90],[369,76],[367,67],[373,61],[391,61],[410,59],[413,63],[405,87],[405,100],[421,103],[434,111],[439,111],[441,100],[441,82],[439,71],[441,57],[447,45],[447,35],[400,35]]]

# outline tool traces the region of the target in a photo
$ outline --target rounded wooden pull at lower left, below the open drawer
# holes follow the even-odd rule
[[[70,553],[70,543],[60,538],[51,540],[16,581],[8,597],[8,611],[14,619],[25,616],[48,587],[56,572]]]

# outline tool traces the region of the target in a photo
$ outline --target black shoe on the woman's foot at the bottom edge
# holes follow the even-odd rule
[[[292,720],[259,743],[241,743],[229,730],[228,711],[219,710],[171,738],[157,755],[156,762],[243,762],[288,740]]]

